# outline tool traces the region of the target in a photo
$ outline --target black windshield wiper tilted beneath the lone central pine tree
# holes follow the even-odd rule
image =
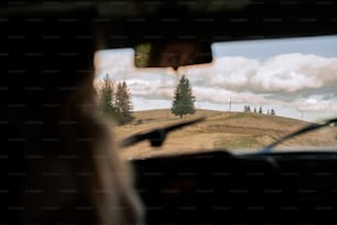
[[[164,140],[166,139],[168,132],[181,129],[188,125],[200,122],[203,120],[205,120],[205,117],[200,117],[189,121],[182,121],[163,128],[156,128],[144,133],[137,133],[123,139],[121,142],[121,147],[129,147],[143,140],[149,140],[152,147],[161,147]]]

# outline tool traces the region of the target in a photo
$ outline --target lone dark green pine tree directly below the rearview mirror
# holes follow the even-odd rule
[[[194,114],[194,101],[195,97],[192,94],[189,81],[183,75],[174,92],[171,113],[180,118],[187,114]]]

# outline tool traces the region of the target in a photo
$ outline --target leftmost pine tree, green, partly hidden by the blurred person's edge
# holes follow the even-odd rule
[[[117,108],[115,106],[115,82],[111,81],[108,74],[102,79],[98,88],[99,109],[104,116],[116,119]]]

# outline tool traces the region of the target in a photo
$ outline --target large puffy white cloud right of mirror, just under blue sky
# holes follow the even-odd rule
[[[209,85],[226,89],[291,93],[337,82],[337,58],[298,53],[278,55],[263,62],[244,57],[220,57],[213,67],[202,72],[191,69],[188,74],[204,75]]]

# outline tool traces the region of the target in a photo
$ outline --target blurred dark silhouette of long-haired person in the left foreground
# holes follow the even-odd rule
[[[95,104],[94,31],[80,18],[34,20],[2,30],[0,223],[141,223],[130,169]]]

